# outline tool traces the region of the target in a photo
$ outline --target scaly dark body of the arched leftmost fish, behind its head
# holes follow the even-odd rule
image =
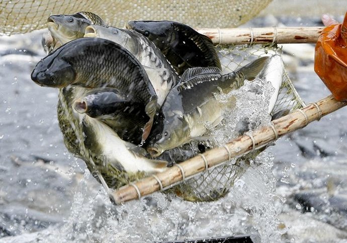
[[[138,60],[124,47],[102,38],[81,38],[63,45],[57,57],[72,65],[75,85],[117,88],[144,103],[155,91]]]

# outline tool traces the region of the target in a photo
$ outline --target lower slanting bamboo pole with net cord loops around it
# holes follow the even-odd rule
[[[347,102],[337,101],[331,95],[327,96],[316,103],[311,103],[302,109],[295,110],[286,116],[273,120],[273,126],[262,127],[253,132],[251,136],[240,136],[224,147],[218,147],[202,155],[188,159],[180,163],[180,167],[170,167],[164,172],[157,173],[155,175],[156,178],[154,176],[148,176],[140,181],[134,182],[133,185],[124,186],[112,192],[110,196],[114,202],[122,203],[159,191],[161,188],[171,187],[184,180],[183,177],[187,178],[197,175],[203,172],[206,167],[211,168],[228,161],[230,158],[250,152],[253,148],[262,147],[270,142],[276,141],[278,137],[303,128],[312,121],[319,120],[322,116],[346,104]]]

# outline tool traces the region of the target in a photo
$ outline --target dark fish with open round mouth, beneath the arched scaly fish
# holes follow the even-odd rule
[[[134,102],[114,88],[96,88],[76,99],[73,108],[81,114],[97,118],[117,135],[133,144],[141,143],[146,124],[145,105]]]

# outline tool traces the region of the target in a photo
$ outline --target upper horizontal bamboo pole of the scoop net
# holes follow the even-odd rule
[[[229,28],[197,31],[210,37],[214,44],[316,43],[325,27]]]

